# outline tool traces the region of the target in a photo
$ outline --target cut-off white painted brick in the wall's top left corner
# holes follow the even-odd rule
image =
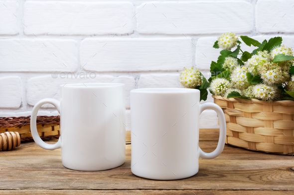
[[[19,28],[17,17],[19,15],[19,4],[16,1],[0,1],[0,34],[18,34]]]

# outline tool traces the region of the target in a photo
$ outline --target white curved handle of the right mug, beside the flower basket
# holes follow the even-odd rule
[[[219,126],[220,126],[220,132],[219,132],[219,140],[216,149],[213,152],[206,153],[201,150],[199,147],[199,157],[204,159],[213,159],[216,158],[218,155],[220,155],[224,149],[225,141],[226,141],[226,119],[224,112],[222,111],[221,107],[214,103],[204,103],[200,104],[200,114],[206,110],[206,109],[212,109],[214,110],[219,118]]]

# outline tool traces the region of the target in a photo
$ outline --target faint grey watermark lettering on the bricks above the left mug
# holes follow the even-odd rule
[[[78,72],[58,72],[54,71],[51,74],[52,78],[95,78],[96,73],[86,72],[86,71],[78,71]]]

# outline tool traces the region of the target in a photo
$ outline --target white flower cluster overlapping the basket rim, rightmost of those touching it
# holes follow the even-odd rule
[[[276,93],[275,87],[267,86],[264,84],[257,84],[252,89],[255,98],[260,100],[274,100]]]

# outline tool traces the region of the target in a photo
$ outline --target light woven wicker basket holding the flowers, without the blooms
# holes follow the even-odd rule
[[[250,150],[294,154],[294,101],[212,96],[225,114],[226,143]]]

